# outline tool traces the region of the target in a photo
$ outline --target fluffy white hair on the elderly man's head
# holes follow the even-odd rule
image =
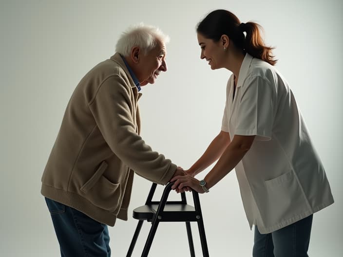
[[[121,34],[115,46],[115,52],[124,56],[129,56],[131,49],[137,46],[141,48],[146,55],[156,46],[157,40],[166,44],[169,42],[170,37],[165,35],[157,27],[139,23],[129,27]]]

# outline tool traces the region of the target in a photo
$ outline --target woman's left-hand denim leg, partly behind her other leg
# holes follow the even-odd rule
[[[254,235],[254,247],[252,248],[253,257],[274,257],[273,254],[273,240],[271,233],[269,234],[260,234],[255,226],[255,235]]]

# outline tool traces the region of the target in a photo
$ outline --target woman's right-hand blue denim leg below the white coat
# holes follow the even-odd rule
[[[272,232],[275,257],[308,257],[313,215]]]

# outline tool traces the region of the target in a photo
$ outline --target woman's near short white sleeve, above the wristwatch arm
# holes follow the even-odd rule
[[[254,76],[246,79],[241,90],[234,134],[270,140],[274,120],[273,88],[266,79]]]

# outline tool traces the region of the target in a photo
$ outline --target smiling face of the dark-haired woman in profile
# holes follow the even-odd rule
[[[223,68],[225,52],[222,42],[220,40],[214,42],[200,33],[198,33],[198,42],[201,48],[200,58],[206,59],[212,70]]]

